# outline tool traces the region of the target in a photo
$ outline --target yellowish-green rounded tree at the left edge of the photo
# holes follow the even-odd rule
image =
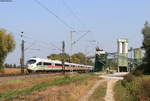
[[[8,55],[15,49],[15,40],[11,33],[0,29],[0,71],[3,71],[3,63]]]

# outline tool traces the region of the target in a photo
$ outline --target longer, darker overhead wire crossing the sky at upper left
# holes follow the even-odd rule
[[[57,18],[58,21],[60,21],[62,24],[64,24],[66,27],[69,29],[74,29],[72,26],[67,24],[63,19],[61,19],[59,16],[57,16],[53,11],[51,11],[48,7],[46,7],[44,4],[42,4],[39,0],[34,0],[40,7],[45,9],[50,15],[53,15],[54,17]]]

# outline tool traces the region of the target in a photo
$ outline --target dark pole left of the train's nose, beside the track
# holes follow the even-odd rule
[[[24,73],[24,40],[23,40],[23,32],[21,32],[21,58],[20,58],[20,64],[21,64],[21,73]]]

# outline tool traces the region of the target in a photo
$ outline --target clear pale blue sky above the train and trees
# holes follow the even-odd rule
[[[117,38],[128,38],[130,47],[140,47],[141,29],[146,20],[150,21],[149,0],[64,0],[80,21],[66,8],[63,0],[39,1],[74,29],[67,28],[34,0],[0,2],[0,28],[12,32],[17,43],[16,50],[8,55],[6,62],[19,63],[21,31],[26,35],[25,47],[31,46],[25,52],[26,59],[59,53],[51,43],[61,47],[62,40],[65,40],[66,52],[69,53],[71,30],[91,31],[73,46],[73,52],[92,55],[96,43],[90,40],[98,41],[100,48],[107,52],[117,51]],[[82,34],[74,33],[74,40]]]

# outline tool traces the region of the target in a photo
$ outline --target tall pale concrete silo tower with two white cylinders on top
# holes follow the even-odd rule
[[[118,72],[128,71],[128,39],[118,39]]]

